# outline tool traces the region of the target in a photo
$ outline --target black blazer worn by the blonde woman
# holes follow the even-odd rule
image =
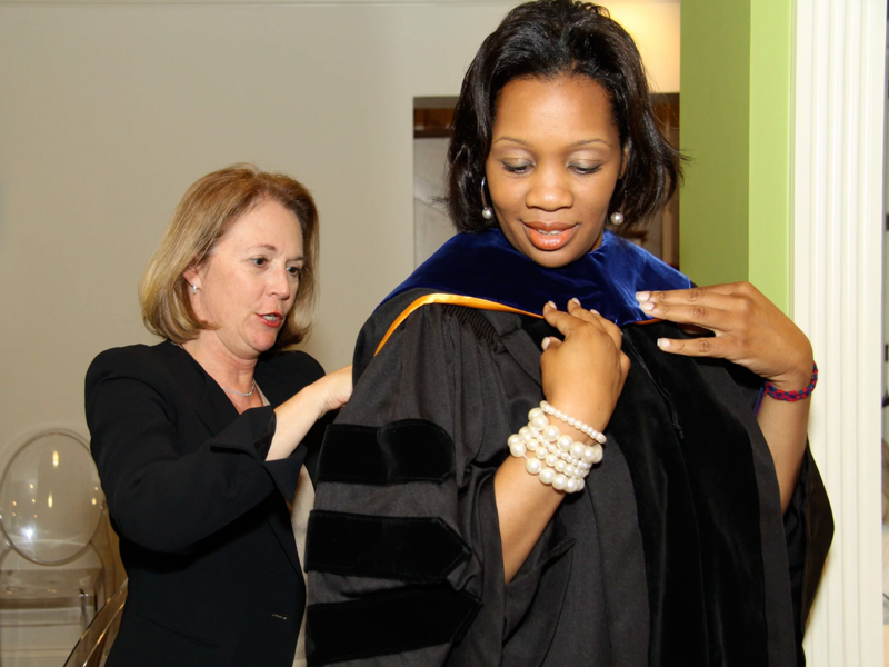
[[[93,360],[92,456],[130,578],[108,667],[290,667],[306,587],[286,499],[320,426],[290,458],[264,458],[272,407],[322,375],[303,352],[263,356],[271,406],[239,416],[171,342]]]

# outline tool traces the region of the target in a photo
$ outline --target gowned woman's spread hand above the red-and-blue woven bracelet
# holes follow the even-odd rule
[[[709,329],[705,338],[658,339],[663,351],[718,357],[743,366],[778,389],[801,389],[812,372],[812,348],[793,321],[749,282],[669,291],[641,291],[652,318]]]

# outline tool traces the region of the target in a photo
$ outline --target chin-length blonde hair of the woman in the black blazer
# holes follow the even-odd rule
[[[291,210],[302,229],[304,263],[293,308],[273,349],[301,341],[311,327],[317,291],[318,210],[309,190],[282,173],[239,163],[198,179],[182,197],[139,286],[142,321],[152,334],[182,344],[210,328],[194,315],[182,273],[197,267],[246,212],[263,201]]]

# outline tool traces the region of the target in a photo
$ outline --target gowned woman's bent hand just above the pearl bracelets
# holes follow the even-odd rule
[[[605,430],[630,370],[630,359],[620,350],[620,329],[577,299],[567,311],[547,303],[543,319],[563,337],[543,340],[543,396],[566,415]]]

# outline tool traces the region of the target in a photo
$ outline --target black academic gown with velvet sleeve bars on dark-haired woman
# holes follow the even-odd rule
[[[608,295],[581,301],[623,320],[630,372],[601,465],[509,584],[493,475],[507,438],[542,399],[539,342],[552,330],[463,299],[470,289],[459,279],[444,286],[457,298],[430,297],[441,292],[426,281],[429,269],[368,321],[354,394],[319,462],[307,542],[310,665],[799,664],[832,532],[817,468],[807,452],[782,517],[752,410],[761,380],[661,352],[657,338],[681,332],[636,323],[626,315],[635,300],[621,293],[682,281],[652,275],[641,251],[607,240],[595,260],[620,282],[609,289],[599,276],[593,287]],[[510,266],[520,257],[501,262],[510,249],[493,241],[483,257],[468,252],[476,238],[456,241],[433,263],[455,276],[487,267],[557,301],[577,293],[552,292],[565,288],[561,273],[552,281],[530,261],[525,271]],[[583,288],[569,278],[570,289]],[[432,302],[398,325],[418,299]]]

